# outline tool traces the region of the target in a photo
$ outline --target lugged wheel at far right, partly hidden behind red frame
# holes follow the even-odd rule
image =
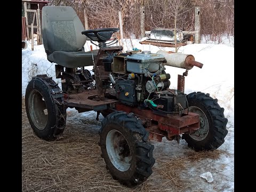
[[[209,93],[194,92],[187,95],[189,111],[199,114],[200,128],[191,134],[183,134],[182,139],[188,147],[195,150],[214,150],[225,141],[228,130],[225,118],[217,99],[210,97]]]

